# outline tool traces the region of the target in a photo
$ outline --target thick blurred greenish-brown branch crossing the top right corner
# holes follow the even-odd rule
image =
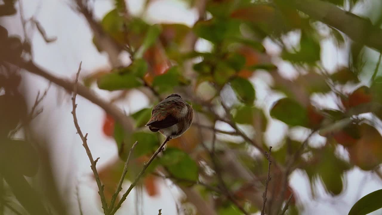
[[[382,51],[382,40],[380,39],[382,38],[382,29],[373,25],[370,20],[320,0],[290,0],[288,4],[311,18],[337,28],[353,41]]]

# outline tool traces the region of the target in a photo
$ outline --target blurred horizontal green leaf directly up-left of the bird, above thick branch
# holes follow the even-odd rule
[[[100,77],[97,85],[102,90],[126,90],[142,86],[142,81],[132,73],[112,72]]]

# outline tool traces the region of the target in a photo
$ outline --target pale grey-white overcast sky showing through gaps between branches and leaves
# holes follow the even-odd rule
[[[24,17],[26,19],[35,16],[45,28],[48,36],[58,38],[56,42],[46,44],[37,31],[31,31],[34,32],[34,34],[30,35],[32,35],[34,60],[37,64],[57,76],[71,78],[72,80],[75,77],[80,61],[82,61],[82,75],[86,75],[99,68],[110,67],[106,54],[100,54],[94,47],[92,33],[87,26],[86,20],[71,10],[69,7],[71,2],[69,0],[19,1],[23,4]],[[367,7],[375,5],[377,1],[365,0],[364,6],[358,8],[356,12],[362,13],[364,10],[369,10]],[[196,21],[196,10],[186,8],[186,5],[180,0],[156,0],[153,2],[149,10],[144,14],[144,17],[150,23],[171,22],[192,26]],[[133,15],[140,14],[142,12],[142,3],[143,0],[128,0],[130,12]],[[102,18],[112,7],[111,0],[95,0],[94,13],[96,18]],[[6,20],[6,23],[10,26],[8,28],[9,34],[21,35],[19,15],[6,18]],[[298,37],[292,34],[291,37],[286,38],[286,41],[293,44],[298,41]],[[264,45],[271,55],[277,55],[281,51],[270,41],[264,41]],[[198,49],[208,50],[208,47],[208,42],[198,42]],[[369,53],[375,54],[374,51]],[[321,57],[325,68],[329,71],[334,71],[338,65],[347,65],[346,56],[340,50],[337,50],[330,40],[322,42]],[[122,56],[122,58],[126,63],[128,62],[126,55]],[[281,62],[278,59],[275,59],[275,64],[278,65],[280,71],[285,76],[293,77],[295,74],[294,68],[290,64]],[[27,76],[29,77],[27,81],[28,91],[31,93],[28,99],[30,99],[29,103],[32,104],[32,99],[35,98],[37,91],[44,90],[48,82],[34,75],[28,74]],[[269,80],[270,77],[264,72],[259,72],[252,78],[256,87],[257,98],[260,101],[264,100],[265,106],[272,104],[273,101],[280,98],[280,95],[275,94],[269,97],[269,94],[266,93],[265,83],[268,83]],[[108,99],[110,96],[110,93],[106,91],[96,91],[105,99]],[[267,100],[265,100],[265,96],[267,96]],[[96,198],[97,188],[90,177],[92,172],[89,168],[89,160],[73,125],[73,118],[70,113],[72,108],[70,98],[71,96],[65,94],[60,88],[52,87],[42,104],[44,106],[44,114],[35,119],[33,125],[36,130],[39,129],[39,126],[45,127],[49,125],[52,127],[52,131],[49,131],[47,138],[55,142],[53,154],[56,156],[53,163],[57,168],[53,169],[53,171],[57,175],[60,191],[62,193],[69,193],[73,197],[71,198],[72,202],[70,205],[73,208],[72,213],[79,213],[75,186],[70,186],[72,189],[69,191],[66,190],[66,187],[68,187],[68,184],[74,185],[80,182],[79,193],[84,213],[102,214],[100,210],[95,208],[95,205],[99,204]],[[145,107],[148,102],[144,94],[136,91],[129,97],[128,101],[119,103],[119,105],[129,113]],[[97,165],[99,168],[116,159],[117,147],[114,140],[106,138],[102,133],[103,110],[81,97],[77,98],[77,103],[78,121],[81,129],[84,133],[89,132],[88,143],[93,156],[101,158]],[[332,106],[334,104],[328,103],[327,105]],[[229,129],[225,125],[222,126],[223,129]],[[276,144],[285,132],[286,127],[282,123],[272,121],[267,131],[269,143]],[[308,135],[308,132],[299,132],[296,138],[304,139],[306,135]],[[323,140],[322,137],[316,137],[314,141],[311,141],[311,144],[318,146],[320,143],[323,143]],[[348,159],[347,153],[343,148],[339,148],[338,152],[345,159]],[[306,215],[321,215],[324,213],[332,215],[347,214],[356,200],[369,192],[382,189],[382,182],[377,176],[371,172],[361,171],[358,168],[354,168],[346,174],[345,192],[337,197],[327,195],[322,184],[318,182],[316,187],[317,198],[312,200],[308,178],[301,171],[295,171],[291,175],[290,182],[290,185],[298,195],[298,201],[306,206],[306,210],[303,213]],[[124,187],[126,188],[126,186],[128,184],[125,184]],[[151,198],[144,193],[144,215],[156,214],[159,208],[162,208],[162,213],[165,215],[176,214],[173,199],[180,197],[181,193],[175,186],[168,186],[168,184],[163,183],[160,194],[158,197]],[[134,197],[135,194],[132,192],[117,214],[126,214],[126,211],[129,211],[129,214],[134,214],[135,210],[132,210],[134,208]],[[381,213],[381,210],[379,210],[373,214]]]

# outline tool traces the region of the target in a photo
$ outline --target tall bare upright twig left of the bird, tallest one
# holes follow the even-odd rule
[[[81,137],[81,140],[83,142],[82,145],[83,145],[83,147],[86,150],[87,156],[89,157],[89,160],[90,160],[90,163],[91,163],[90,167],[91,167],[91,169],[93,171],[94,178],[95,178],[95,181],[97,182],[97,186],[98,186],[98,190],[99,190],[98,194],[101,197],[102,209],[104,209],[104,213],[106,214],[107,213],[107,202],[106,202],[105,194],[104,194],[104,186],[102,185],[101,180],[100,180],[99,175],[98,175],[98,172],[97,172],[97,169],[95,168],[95,164],[97,163],[99,158],[97,158],[97,160],[93,159],[92,153],[91,153],[91,151],[89,149],[89,146],[87,145],[87,134],[85,134],[85,136],[83,135],[83,133],[82,133],[80,127],[79,127],[78,121],[77,121],[76,96],[77,96],[78,77],[79,77],[79,72],[81,71],[81,64],[82,64],[82,62],[79,64],[78,72],[77,72],[77,75],[76,75],[76,81],[74,82],[73,97],[72,97],[73,111],[71,113],[73,115],[74,126],[76,126],[77,133],[78,133],[79,137]]]

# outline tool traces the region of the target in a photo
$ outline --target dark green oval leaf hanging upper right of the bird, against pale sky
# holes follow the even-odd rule
[[[251,82],[245,78],[236,77],[230,81],[230,84],[240,101],[248,105],[253,105],[256,95]]]

